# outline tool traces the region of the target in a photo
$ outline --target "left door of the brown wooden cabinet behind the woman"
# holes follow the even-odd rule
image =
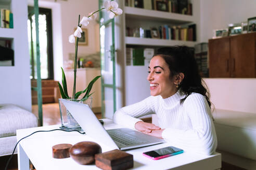
[[[229,77],[229,38],[209,40],[209,77]]]

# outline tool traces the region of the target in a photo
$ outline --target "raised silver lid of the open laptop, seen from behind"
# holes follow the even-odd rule
[[[87,135],[97,141],[103,141],[104,139],[105,145],[113,149],[119,149],[88,105],[67,100],[63,100],[62,103]]]

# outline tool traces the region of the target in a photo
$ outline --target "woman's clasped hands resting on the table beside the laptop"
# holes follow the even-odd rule
[[[135,123],[135,129],[139,132],[145,133],[150,136],[155,136],[162,139],[162,132],[164,129],[161,129],[161,127],[156,126],[152,123],[146,123],[144,121],[139,121]]]

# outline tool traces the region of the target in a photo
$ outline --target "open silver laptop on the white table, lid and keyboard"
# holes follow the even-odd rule
[[[127,128],[106,131],[88,105],[66,100],[63,100],[63,104],[87,135],[98,141],[104,140],[104,143],[113,149],[126,150],[165,142]]]

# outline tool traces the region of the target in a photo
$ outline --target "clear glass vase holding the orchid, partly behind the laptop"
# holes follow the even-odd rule
[[[62,102],[63,100],[83,103],[85,105],[88,105],[90,108],[92,108],[93,97],[89,97],[86,100],[59,98],[59,111],[60,111],[60,120],[61,120],[60,129],[63,129],[63,130],[78,130],[80,132],[83,132],[81,126],[73,118],[72,113],[65,107],[65,105],[63,105],[63,102]]]

